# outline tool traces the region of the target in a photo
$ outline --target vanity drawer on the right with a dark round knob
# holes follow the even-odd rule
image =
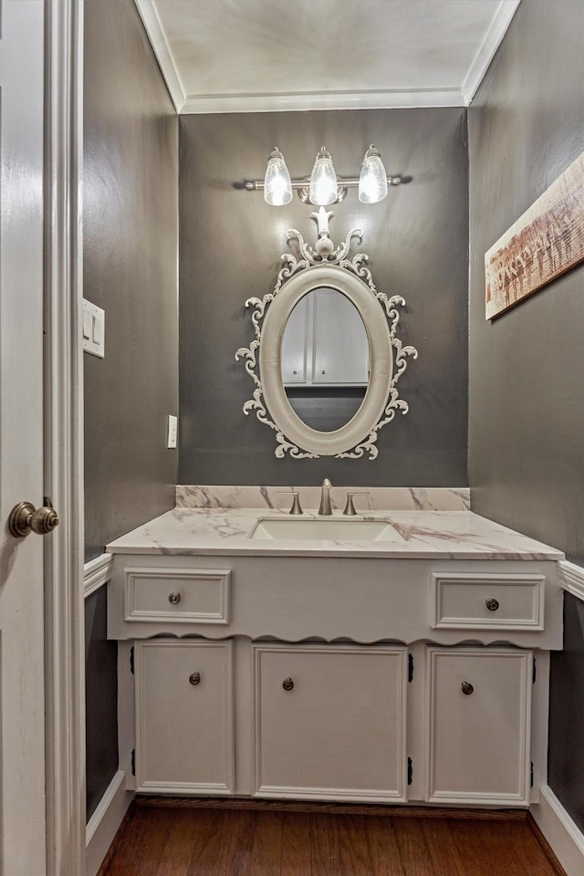
[[[543,630],[543,575],[432,575],[434,630]]]

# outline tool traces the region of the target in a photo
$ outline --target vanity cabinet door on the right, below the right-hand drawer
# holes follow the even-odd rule
[[[427,651],[426,800],[527,805],[533,656]]]

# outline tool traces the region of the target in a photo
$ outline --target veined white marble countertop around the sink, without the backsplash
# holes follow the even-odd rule
[[[385,520],[392,541],[251,539],[258,519]],[[292,518],[272,507],[175,507],[112,541],[110,553],[240,555],[255,557],[386,557],[395,559],[559,560],[561,551],[471,511],[372,510],[356,517],[305,512]]]

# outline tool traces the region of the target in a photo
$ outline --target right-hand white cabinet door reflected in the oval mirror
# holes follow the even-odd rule
[[[359,310],[336,289],[317,289],[312,295],[313,381],[366,385],[369,341]]]

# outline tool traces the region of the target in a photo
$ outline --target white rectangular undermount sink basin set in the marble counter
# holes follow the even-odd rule
[[[386,520],[282,520],[264,517],[249,538],[300,538],[309,541],[402,541]]]

